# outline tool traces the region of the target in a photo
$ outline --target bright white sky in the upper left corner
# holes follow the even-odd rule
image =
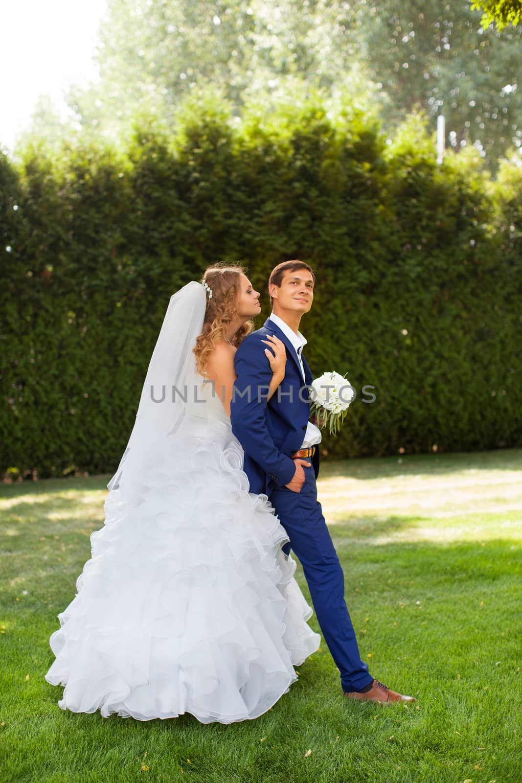
[[[0,0],[0,145],[12,149],[41,94],[97,76],[92,57],[106,0]]]

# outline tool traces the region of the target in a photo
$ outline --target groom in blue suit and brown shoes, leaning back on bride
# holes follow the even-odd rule
[[[340,671],[344,695],[383,703],[415,701],[391,691],[369,674],[361,660],[344,601],[344,573],[317,500],[321,431],[310,420],[307,386],[312,375],[304,355],[301,317],[311,309],[315,275],[299,260],[272,270],[268,291],[272,314],[236,351],[232,431],[245,453],[250,492],[265,493],[275,508],[301,565],[319,626]],[[268,334],[286,346],[285,377],[267,402],[272,370],[263,340]]]

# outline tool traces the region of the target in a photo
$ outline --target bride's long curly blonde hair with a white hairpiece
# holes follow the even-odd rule
[[[203,329],[196,339],[193,352],[196,355],[196,370],[203,375],[207,359],[214,350],[218,340],[225,340],[224,331],[237,318],[237,300],[240,291],[240,275],[245,270],[240,265],[214,264],[207,267],[201,282],[207,283],[212,289],[212,297],[207,294],[207,311],[203,320]],[[232,345],[236,348],[254,328],[254,322],[245,321],[232,337]]]

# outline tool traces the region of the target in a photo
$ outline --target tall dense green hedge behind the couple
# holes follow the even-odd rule
[[[315,269],[308,361],[358,390],[323,455],[520,446],[521,236],[520,168],[438,165],[416,117],[386,139],[355,108],[206,107],[124,155],[0,157],[0,473],[113,471],[168,299],[218,260],[264,292],[258,326],[272,267]]]

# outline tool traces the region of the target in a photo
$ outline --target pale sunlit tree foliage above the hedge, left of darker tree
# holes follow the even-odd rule
[[[238,114],[296,80],[326,92],[371,88],[347,40],[356,26],[338,0],[110,0],[100,82],[72,89],[68,103],[99,130],[128,124],[138,107],[172,123],[185,96],[209,86]]]

